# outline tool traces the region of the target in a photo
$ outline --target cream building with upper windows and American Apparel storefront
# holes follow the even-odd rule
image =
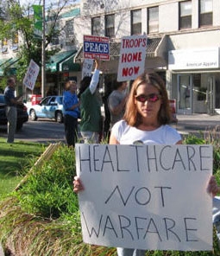
[[[220,1],[82,0],[74,29],[83,35],[110,37],[107,82],[116,77],[120,40],[148,35],[145,67],[166,80],[178,113],[220,112]],[[83,32],[83,33],[82,33]],[[83,61],[79,48],[75,61]]]

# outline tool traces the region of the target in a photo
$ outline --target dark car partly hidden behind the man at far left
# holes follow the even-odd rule
[[[5,113],[6,104],[4,101],[4,95],[0,94],[0,125],[7,125],[8,120],[6,118]],[[28,122],[28,113],[27,113],[27,107],[23,104],[17,105],[17,122],[16,122],[16,130],[21,130],[22,125],[25,122]]]

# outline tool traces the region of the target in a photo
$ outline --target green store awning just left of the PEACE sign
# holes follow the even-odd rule
[[[66,71],[64,67],[69,68],[69,71],[78,71],[78,70],[75,70],[75,68],[77,69],[79,64],[75,67],[74,64],[76,63],[73,63],[73,57],[75,54],[76,54],[76,51],[74,50],[54,54],[53,56],[51,56],[50,61],[46,63],[47,71],[63,72],[63,71]]]

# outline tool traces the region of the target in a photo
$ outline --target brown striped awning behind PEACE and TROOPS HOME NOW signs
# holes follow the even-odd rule
[[[119,59],[120,56],[121,42],[110,42],[110,60]],[[165,36],[152,37],[148,38],[147,45],[147,58],[155,58],[158,56],[163,57],[163,53],[166,48]],[[75,62],[82,62],[84,59],[83,56],[83,47],[81,47],[78,53],[75,56]]]

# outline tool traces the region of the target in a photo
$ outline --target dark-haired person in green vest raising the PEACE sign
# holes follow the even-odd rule
[[[86,144],[99,143],[100,124],[102,121],[102,99],[97,92],[99,80],[99,60],[95,59],[95,70],[92,77],[85,76],[80,82],[80,131]]]

